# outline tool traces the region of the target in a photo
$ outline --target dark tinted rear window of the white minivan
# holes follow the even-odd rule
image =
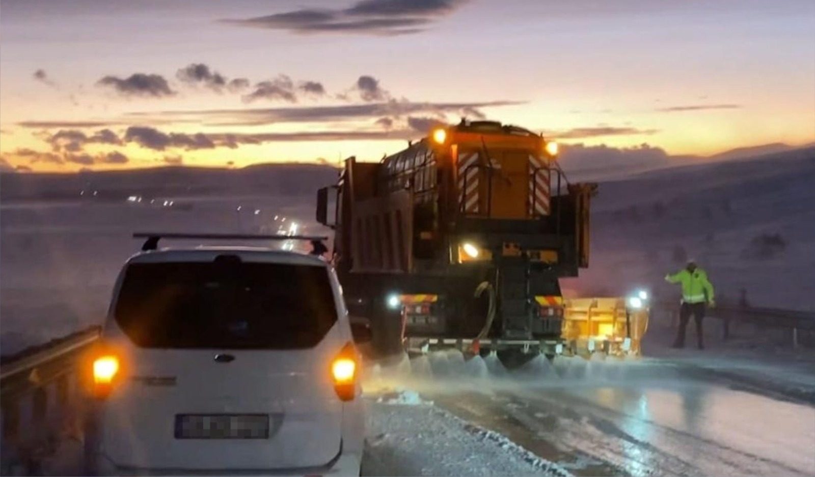
[[[130,264],[113,313],[142,348],[313,348],[337,322],[325,267],[240,260]]]

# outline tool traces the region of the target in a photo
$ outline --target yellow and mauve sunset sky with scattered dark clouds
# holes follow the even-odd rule
[[[584,147],[815,141],[809,0],[2,0],[4,170],[378,160],[461,116]]]

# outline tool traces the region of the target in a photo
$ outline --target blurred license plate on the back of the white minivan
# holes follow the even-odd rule
[[[268,414],[177,414],[176,439],[268,439]]]

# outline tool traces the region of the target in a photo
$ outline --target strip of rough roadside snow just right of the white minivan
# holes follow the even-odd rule
[[[370,396],[366,405],[363,475],[571,475],[503,435],[436,408],[415,392]]]

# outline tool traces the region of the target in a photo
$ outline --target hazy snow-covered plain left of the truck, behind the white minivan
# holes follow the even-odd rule
[[[268,197],[187,202],[192,210],[124,202],[2,203],[0,352],[12,354],[102,322],[121,265],[142,245],[131,238],[134,232],[275,234],[296,221],[298,233],[309,233],[316,225],[311,203]]]

